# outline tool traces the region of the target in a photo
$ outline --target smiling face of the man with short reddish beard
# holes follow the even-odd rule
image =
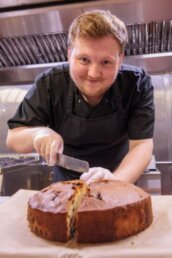
[[[112,36],[76,38],[68,50],[70,74],[90,105],[97,105],[116,79],[123,54]]]

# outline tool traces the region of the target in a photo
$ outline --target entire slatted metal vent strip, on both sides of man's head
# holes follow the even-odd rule
[[[127,26],[125,55],[172,51],[172,20]],[[67,61],[67,33],[0,39],[0,67]]]

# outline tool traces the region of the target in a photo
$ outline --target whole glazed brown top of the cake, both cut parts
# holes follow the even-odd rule
[[[85,183],[81,180],[54,183],[29,199],[33,209],[43,212],[67,213],[69,205]],[[88,186],[87,193],[82,197],[79,212],[106,210],[115,207],[138,203],[149,194],[141,188],[124,181],[102,180]]]

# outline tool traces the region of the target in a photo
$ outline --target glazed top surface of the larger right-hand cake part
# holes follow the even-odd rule
[[[149,194],[124,181],[103,180],[90,184],[88,196],[81,201],[79,212],[111,209],[138,203]]]

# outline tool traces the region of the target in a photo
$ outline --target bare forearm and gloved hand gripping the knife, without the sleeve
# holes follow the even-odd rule
[[[7,147],[19,153],[36,151],[48,164],[63,152],[62,137],[48,127],[18,127],[8,130]]]

